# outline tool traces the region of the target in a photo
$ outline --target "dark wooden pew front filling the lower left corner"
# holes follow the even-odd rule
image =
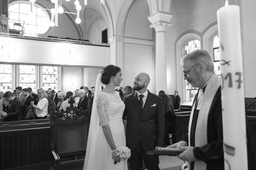
[[[0,123],[0,169],[49,169],[51,167],[49,120]]]

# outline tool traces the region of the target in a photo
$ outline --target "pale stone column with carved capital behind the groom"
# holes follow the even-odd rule
[[[167,65],[166,65],[166,27],[171,26],[169,20],[172,15],[157,12],[148,17],[155,28],[155,93],[160,90],[167,93]]]

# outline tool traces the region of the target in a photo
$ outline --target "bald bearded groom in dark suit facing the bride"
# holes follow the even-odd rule
[[[159,169],[158,157],[146,155],[146,151],[157,150],[164,144],[164,109],[162,99],[148,91],[149,82],[147,73],[137,74],[133,87],[136,91],[124,97],[130,170],[141,169],[143,160],[148,170]]]

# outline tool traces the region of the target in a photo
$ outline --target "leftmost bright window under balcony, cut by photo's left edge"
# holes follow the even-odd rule
[[[12,65],[0,65],[0,89],[12,91]]]

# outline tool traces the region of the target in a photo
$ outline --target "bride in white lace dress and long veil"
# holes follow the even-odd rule
[[[124,103],[115,91],[115,86],[123,81],[121,76],[121,68],[108,65],[97,77],[83,170],[128,169],[127,163],[120,162],[115,154],[116,148],[126,146],[122,120]],[[102,91],[101,82],[107,85]]]

